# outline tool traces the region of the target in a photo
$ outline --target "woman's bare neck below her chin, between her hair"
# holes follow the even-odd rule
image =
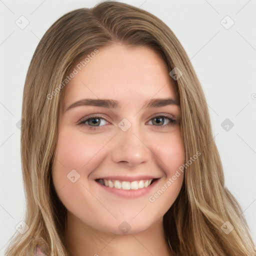
[[[64,237],[73,256],[171,255],[164,239],[162,218],[141,232],[119,235],[94,229],[68,213]]]

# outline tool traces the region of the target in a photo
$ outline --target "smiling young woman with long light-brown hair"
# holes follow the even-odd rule
[[[23,93],[24,222],[6,255],[256,255],[207,104],[157,17],[106,1],[44,34]]]

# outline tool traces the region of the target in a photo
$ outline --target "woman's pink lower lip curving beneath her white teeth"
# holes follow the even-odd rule
[[[99,182],[95,181],[99,186],[101,186],[105,191],[112,193],[117,196],[121,196],[124,198],[136,198],[143,195],[146,195],[158,182],[159,178],[154,180],[152,184],[150,184],[148,187],[144,188],[138,188],[138,189],[121,189],[121,188],[115,188],[115,187],[109,187],[104,186],[100,184]]]

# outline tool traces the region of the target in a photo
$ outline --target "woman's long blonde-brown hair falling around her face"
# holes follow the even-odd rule
[[[181,109],[185,162],[197,151],[201,155],[184,171],[179,195],[163,216],[166,242],[173,254],[256,255],[242,210],[224,186],[205,97],[183,47],[160,19],[114,1],[66,13],[46,31],[33,54],[25,79],[21,123],[24,221],[29,228],[13,236],[6,255],[32,255],[36,244],[48,254],[69,255],[62,236],[66,209],[51,178],[65,87],[51,97],[47,95],[81,57],[116,41],[149,46],[160,54],[169,71],[174,67],[182,71],[174,83]],[[226,221],[234,227],[228,234],[221,229]]]

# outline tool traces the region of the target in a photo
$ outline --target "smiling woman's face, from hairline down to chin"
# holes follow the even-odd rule
[[[146,230],[176,199],[184,148],[177,97],[148,47],[112,44],[68,82],[52,166],[57,194],[84,226]],[[54,100],[54,99],[52,99]]]

